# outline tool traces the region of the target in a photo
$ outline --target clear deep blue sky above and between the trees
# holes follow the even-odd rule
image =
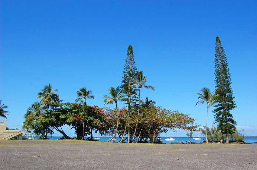
[[[137,69],[155,87],[141,96],[204,125],[206,105],[195,106],[196,93],[215,89],[219,36],[237,104],[231,113],[238,129],[257,136],[256,8],[256,1],[1,1],[0,99],[10,112],[7,126],[21,126],[49,83],[64,102],[75,101],[76,91],[86,87],[95,96],[87,104],[102,107],[107,89],[121,84],[130,44]]]

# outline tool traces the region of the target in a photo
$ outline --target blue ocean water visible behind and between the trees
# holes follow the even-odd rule
[[[51,137],[51,136],[48,136],[48,137],[49,137],[48,140],[58,140],[61,138],[61,137]],[[96,137],[94,137],[94,138],[96,138]],[[108,139],[110,139],[110,137],[99,137],[99,138],[100,139],[97,139],[99,141],[107,141]],[[205,140],[205,137],[199,137],[199,138],[201,138],[201,140],[194,140],[193,138],[189,139],[188,137],[173,137],[173,138],[175,138],[174,141],[166,141],[165,137],[161,137],[161,140],[163,141],[163,143],[168,143],[168,144],[174,143],[174,142],[186,143],[186,142],[189,142],[189,140],[191,140],[191,142],[200,143],[200,142],[203,142],[203,139]],[[116,141],[119,141],[119,140],[120,140],[120,138],[116,138]],[[246,143],[257,144],[257,143],[254,143],[254,142],[257,142],[257,137],[245,137],[244,141]],[[113,141],[110,141],[110,142],[113,142]],[[127,140],[125,140],[125,142],[127,142]]]

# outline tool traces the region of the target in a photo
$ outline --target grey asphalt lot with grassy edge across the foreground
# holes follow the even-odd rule
[[[0,169],[257,169],[257,144],[0,141]]]

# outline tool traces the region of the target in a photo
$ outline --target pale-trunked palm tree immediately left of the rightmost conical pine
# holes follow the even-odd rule
[[[207,138],[207,118],[208,118],[208,108],[210,106],[213,105],[213,103],[215,102],[215,97],[216,97],[216,94],[214,93],[211,93],[210,92],[210,89],[208,89],[207,87],[203,87],[201,90],[200,90],[200,93],[196,93],[198,96],[198,99],[201,99],[199,100],[195,105],[197,105],[198,103],[201,103],[203,104],[204,102],[207,102],[207,116],[206,116],[206,122],[205,122],[205,138],[206,138],[206,143],[209,143],[208,142],[208,138]]]

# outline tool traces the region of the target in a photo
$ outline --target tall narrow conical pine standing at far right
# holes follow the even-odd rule
[[[229,134],[236,131],[236,121],[233,120],[233,115],[230,110],[236,108],[236,103],[233,99],[233,91],[231,89],[231,78],[227,64],[226,54],[221,45],[219,37],[216,37],[215,47],[215,87],[216,87],[216,109],[215,121],[218,123],[218,130],[226,134],[228,139]],[[227,141],[228,142],[228,141]]]

